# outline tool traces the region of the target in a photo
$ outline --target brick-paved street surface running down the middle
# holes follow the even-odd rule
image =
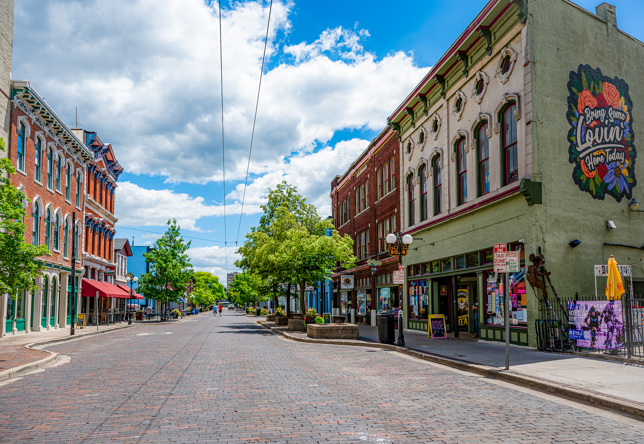
[[[235,313],[50,349],[71,362],[0,387],[0,443],[644,442],[629,418]]]

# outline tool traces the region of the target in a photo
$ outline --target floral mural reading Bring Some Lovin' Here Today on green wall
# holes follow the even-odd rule
[[[636,186],[629,85],[601,74],[600,68],[579,65],[570,73],[568,111],[569,162],[574,183],[592,197],[631,198]]]

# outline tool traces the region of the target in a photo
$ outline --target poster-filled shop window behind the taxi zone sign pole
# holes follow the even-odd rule
[[[510,325],[527,327],[526,269],[510,275]],[[486,273],[486,325],[505,325],[503,274]]]

